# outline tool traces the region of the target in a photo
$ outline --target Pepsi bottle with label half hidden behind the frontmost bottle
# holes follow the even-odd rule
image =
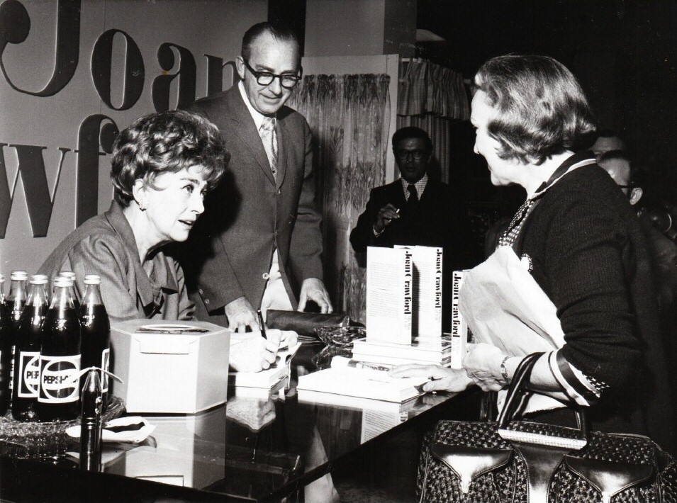
[[[47,276],[30,276],[30,290],[16,329],[12,386],[12,417],[39,421],[40,329],[47,314]]]

